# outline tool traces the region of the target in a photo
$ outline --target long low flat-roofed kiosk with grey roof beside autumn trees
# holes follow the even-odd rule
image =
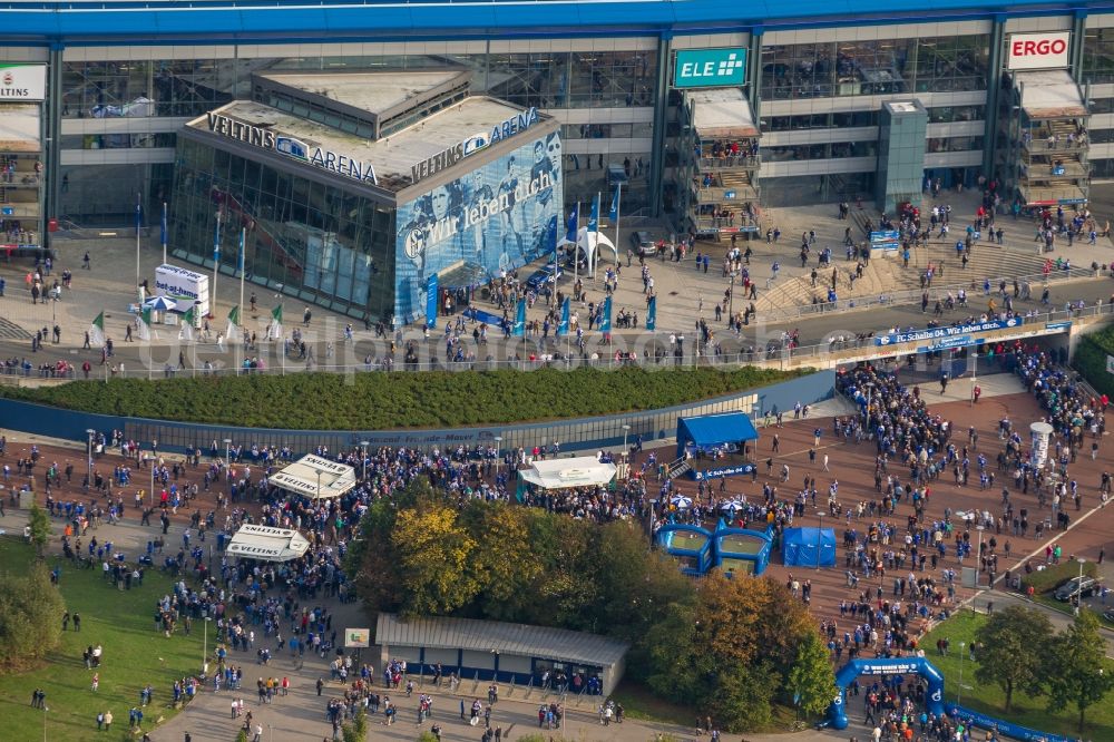
[[[381,613],[375,642],[380,665],[405,660],[407,670],[430,674],[440,663],[443,675],[535,686],[564,677],[570,693],[598,683],[610,694],[623,677],[625,642],[564,628],[472,618],[403,618]],[[545,678],[545,680],[543,680]]]

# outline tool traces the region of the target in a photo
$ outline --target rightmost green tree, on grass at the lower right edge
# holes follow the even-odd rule
[[[1078,731],[1083,733],[1087,709],[1114,687],[1114,667],[1106,660],[1106,643],[1093,612],[1081,611],[1075,622],[1056,635],[1048,647],[1044,675],[1048,711],[1074,705],[1079,712]]]

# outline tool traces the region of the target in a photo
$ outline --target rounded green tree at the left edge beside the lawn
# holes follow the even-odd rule
[[[46,565],[0,574],[0,668],[25,670],[58,646],[66,603]]]

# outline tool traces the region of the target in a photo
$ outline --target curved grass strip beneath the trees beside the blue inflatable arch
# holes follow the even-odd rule
[[[964,611],[944,622],[921,641],[926,656],[937,670],[944,673],[945,697],[948,703],[955,703],[959,689],[960,650],[959,643],[970,644],[976,629],[986,622],[984,614]],[[951,642],[948,656],[941,657],[936,652],[936,641],[947,638]],[[983,685],[975,680],[976,663],[969,661],[966,650],[962,651],[962,697],[960,705],[1004,719],[1003,703],[1005,694],[997,685]],[[1019,691],[1014,692],[1014,707],[1008,720],[1028,726],[1029,729],[1074,736],[1076,732],[1077,712],[1069,706],[1057,713],[1046,711],[1046,700],[1030,699]],[[1091,740],[1114,740],[1114,697],[1107,696],[1102,703],[1087,709],[1087,728],[1084,738]]]

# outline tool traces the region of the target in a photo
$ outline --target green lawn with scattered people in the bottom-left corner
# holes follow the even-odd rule
[[[33,551],[22,540],[0,538],[0,568],[19,572],[33,559]],[[48,557],[48,566],[61,557]],[[195,673],[202,662],[202,631],[195,624],[190,636],[178,631],[166,638],[154,631],[155,602],[170,590],[170,580],[157,570],[147,570],[144,586],[117,590],[100,577],[99,569],[76,570],[62,565],[61,593],[70,614],[81,614],[81,632],[62,634],[61,644],[47,658],[47,665],[26,673],[0,677],[0,713],[4,717],[3,738],[8,740],[124,740],[128,738],[128,710],[139,705],[139,690],[150,683],[154,700],[144,709],[144,729],[149,731],[159,717],[172,716],[170,686],[187,673]],[[209,648],[213,647],[209,636]],[[95,671],[86,670],[81,653],[100,644],[100,687],[94,693]],[[31,707],[31,691],[47,693],[43,712]],[[113,712],[110,732],[97,731],[97,714]],[[46,733],[43,732],[46,724]]]

